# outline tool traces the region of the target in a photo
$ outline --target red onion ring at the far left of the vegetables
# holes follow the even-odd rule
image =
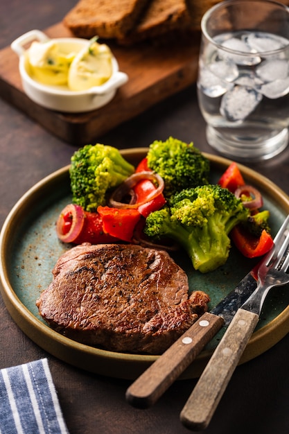
[[[65,223],[64,216],[69,214],[71,216],[71,228],[67,234],[63,234],[62,227]],[[56,232],[58,238],[63,243],[73,243],[82,231],[83,225],[85,223],[85,211],[79,205],[69,204],[64,209],[62,209],[58,221],[56,222]]]

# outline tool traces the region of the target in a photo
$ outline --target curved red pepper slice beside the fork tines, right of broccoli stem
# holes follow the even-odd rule
[[[248,234],[240,225],[235,226],[230,232],[236,248],[247,258],[261,257],[273,247],[273,238],[263,229],[260,238]]]

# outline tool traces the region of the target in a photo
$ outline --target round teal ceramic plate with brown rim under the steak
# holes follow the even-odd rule
[[[122,150],[123,156],[137,164],[146,155],[146,148]],[[207,155],[211,160],[212,182],[217,182],[230,161]],[[52,279],[51,270],[58,257],[68,247],[55,234],[55,221],[65,205],[71,202],[68,166],[38,182],[13,207],[0,236],[1,293],[10,315],[26,335],[37,345],[62,361],[89,372],[135,379],[157,356],[104,351],[70,340],[53,331],[40,318],[35,301]],[[289,198],[267,178],[240,165],[247,184],[259,188],[264,207],[270,209],[273,235],[289,213]],[[179,258],[180,257],[180,258]],[[229,260],[218,270],[201,275],[192,270],[186,254],[175,260],[186,270],[191,290],[200,289],[211,297],[211,307],[238,284],[254,266],[231,249]],[[289,331],[289,288],[275,288],[268,295],[258,327],[243,358],[244,363],[272,347]],[[182,379],[200,375],[224,329],[202,351],[184,372]]]

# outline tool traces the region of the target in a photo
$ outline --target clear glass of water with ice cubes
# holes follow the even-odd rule
[[[208,10],[197,84],[213,148],[240,162],[281,153],[289,139],[289,8],[227,0]]]

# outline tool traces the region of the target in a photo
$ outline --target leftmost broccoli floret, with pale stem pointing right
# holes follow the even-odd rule
[[[118,149],[103,144],[86,145],[71,157],[69,169],[72,201],[85,211],[105,205],[106,194],[134,173]]]

